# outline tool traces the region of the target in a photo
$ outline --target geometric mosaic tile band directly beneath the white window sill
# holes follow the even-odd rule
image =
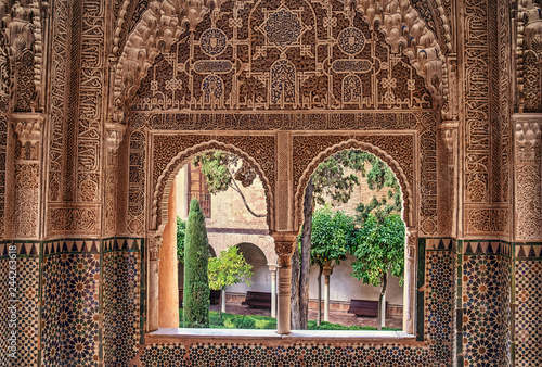
[[[425,346],[384,344],[195,343],[185,360],[182,344],[149,344],[142,366],[430,366]]]

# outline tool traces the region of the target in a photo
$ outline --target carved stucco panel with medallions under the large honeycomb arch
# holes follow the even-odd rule
[[[433,109],[404,48],[341,1],[225,1],[158,45],[131,110]]]

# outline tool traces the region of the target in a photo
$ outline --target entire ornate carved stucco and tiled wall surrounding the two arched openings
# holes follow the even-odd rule
[[[17,351],[0,364],[540,365],[540,14],[533,0],[0,0],[0,345]],[[284,311],[307,179],[348,148],[401,184],[417,341],[149,334],[163,208],[191,156],[257,168]]]

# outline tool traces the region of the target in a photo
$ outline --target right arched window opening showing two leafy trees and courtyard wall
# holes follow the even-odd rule
[[[292,328],[307,328],[304,319],[314,328],[315,319],[320,327],[401,330],[405,225],[393,172],[371,153],[343,150],[315,168],[305,194]]]

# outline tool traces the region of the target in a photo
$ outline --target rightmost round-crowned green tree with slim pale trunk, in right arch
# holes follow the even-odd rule
[[[383,325],[383,300],[388,284],[388,273],[403,283],[404,271],[404,223],[397,213],[387,215],[382,222],[370,213],[359,229],[351,254],[352,276],[366,284],[380,287],[378,296],[378,330]]]

